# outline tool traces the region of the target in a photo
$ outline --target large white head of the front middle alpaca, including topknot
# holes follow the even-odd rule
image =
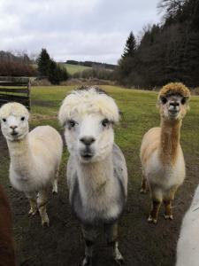
[[[73,90],[63,101],[58,116],[65,126],[68,150],[81,162],[102,160],[111,153],[113,124],[119,121],[119,108],[103,90]]]

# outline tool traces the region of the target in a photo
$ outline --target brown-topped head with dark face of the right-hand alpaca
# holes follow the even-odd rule
[[[188,111],[190,91],[180,82],[165,85],[158,95],[158,106],[163,119],[180,121]]]

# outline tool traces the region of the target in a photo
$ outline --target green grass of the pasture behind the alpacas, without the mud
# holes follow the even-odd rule
[[[157,110],[157,92],[147,90],[127,90],[113,86],[102,86],[117,102],[122,112],[121,121],[115,129],[116,143],[125,151],[129,168],[134,167],[134,174],[129,175],[136,183],[140,182],[140,145],[143,134],[152,127],[159,126]],[[66,94],[73,86],[35,87],[32,89],[32,127],[49,123],[58,130],[57,112]],[[185,117],[181,129],[181,145],[183,151],[198,155],[195,147],[199,143],[199,98],[192,97],[190,111]]]

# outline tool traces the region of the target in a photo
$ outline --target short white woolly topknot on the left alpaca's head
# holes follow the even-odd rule
[[[19,103],[8,103],[0,108],[0,119],[7,118],[9,115],[29,116],[27,108]]]

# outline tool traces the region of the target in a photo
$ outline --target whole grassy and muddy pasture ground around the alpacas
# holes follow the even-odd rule
[[[116,143],[125,153],[129,185],[128,201],[120,222],[120,249],[129,266],[174,266],[176,243],[182,216],[188,208],[195,186],[199,183],[199,98],[192,97],[190,111],[183,121],[181,145],[187,161],[187,179],[174,202],[174,221],[159,215],[157,226],[147,223],[149,195],[141,195],[141,163],[139,150],[143,134],[159,125],[156,107],[157,92],[125,90],[119,87],[102,86],[119,105],[122,119],[115,129]],[[65,95],[73,90],[67,87],[34,87],[32,89],[31,128],[50,124],[63,134],[57,122],[57,111]],[[75,266],[84,253],[80,224],[71,213],[65,184],[65,165],[68,153],[64,152],[60,169],[59,194],[50,196],[48,213],[50,228],[42,229],[40,218],[28,218],[28,203],[25,196],[15,192],[8,181],[9,155],[2,136],[0,150],[0,182],[4,184],[11,200],[14,238],[19,265],[23,266]],[[110,254],[104,242],[99,244],[94,266],[111,266]]]

